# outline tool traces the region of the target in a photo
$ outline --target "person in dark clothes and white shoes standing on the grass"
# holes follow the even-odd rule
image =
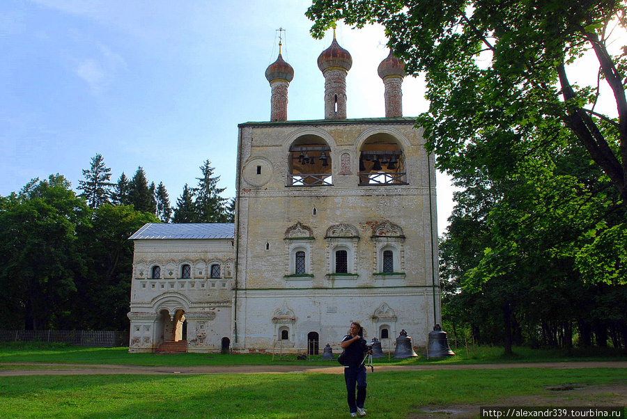
[[[348,409],[350,416],[366,416],[364,402],[366,402],[366,367],[364,356],[369,352],[366,348],[366,340],[362,338],[364,329],[359,322],[350,324],[348,335],[344,336],[341,347],[344,349],[344,380],[348,393]],[[355,399],[355,386],[357,386],[357,399]]]

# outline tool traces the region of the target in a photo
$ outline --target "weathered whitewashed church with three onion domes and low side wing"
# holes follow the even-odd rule
[[[346,118],[351,65],[334,39],[318,57],[325,119],[290,121],[279,49],[270,122],[239,125],[235,223],[130,237],[130,352],[337,353],[352,321],[384,351],[402,329],[426,346],[441,323],[433,156],[402,116],[403,63],[379,65],[385,118],[362,119]]]

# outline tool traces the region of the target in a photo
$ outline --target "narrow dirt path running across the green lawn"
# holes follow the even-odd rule
[[[21,368],[23,367],[23,368]],[[627,361],[569,362],[569,363],[502,363],[472,365],[381,365],[382,371],[430,371],[430,370],[503,370],[511,368],[627,368]],[[93,374],[285,374],[295,372],[322,372],[343,374],[343,367],[326,365],[235,365],[202,367],[146,367],[140,365],[85,365],[52,363],[0,363],[0,377],[20,375],[93,375]],[[627,375],[627,371],[626,371]]]

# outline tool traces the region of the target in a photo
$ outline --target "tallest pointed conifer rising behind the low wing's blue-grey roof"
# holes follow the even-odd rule
[[[199,181],[198,187],[194,188],[196,214],[198,216],[196,222],[225,223],[228,218],[225,208],[226,198],[222,198],[220,193],[224,192],[226,188],[217,187],[220,177],[212,177],[214,168],[210,164],[211,162],[206,160],[200,167],[202,177],[196,177]]]

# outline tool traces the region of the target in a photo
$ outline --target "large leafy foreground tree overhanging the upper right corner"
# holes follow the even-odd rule
[[[318,38],[340,19],[385,26],[408,73],[426,72],[419,124],[449,173],[491,161],[505,175],[568,129],[627,205],[627,53],[610,51],[612,31],[627,27],[624,0],[316,0],[306,14]],[[592,86],[569,74],[584,54],[598,66]],[[601,83],[617,118],[595,109]]]

